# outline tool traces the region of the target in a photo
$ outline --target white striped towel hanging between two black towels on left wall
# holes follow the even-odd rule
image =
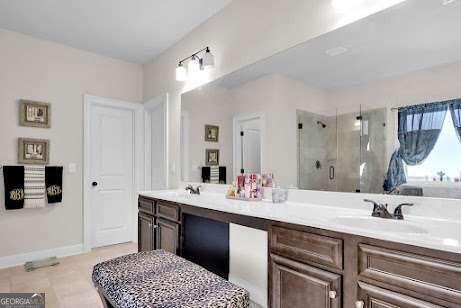
[[[45,205],[45,166],[24,166],[24,208]]]

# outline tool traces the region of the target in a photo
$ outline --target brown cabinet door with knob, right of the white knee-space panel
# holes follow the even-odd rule
[[[277,255],[271,255],[269,266],[270,307],[341,307],[340,275]]]

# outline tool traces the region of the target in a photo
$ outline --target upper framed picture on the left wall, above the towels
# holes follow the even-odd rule
[[[51,105],[21,99],[19,101],[19,125],[28,127],[51,127]]]

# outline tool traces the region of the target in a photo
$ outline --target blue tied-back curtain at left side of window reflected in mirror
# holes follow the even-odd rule
[[[407,182],[403,162],[422,163],[434,149],[447,114],[447,102],[409,106],[399,109],[398,138],[400,148],[392,155],[385,191],[393,191]]]

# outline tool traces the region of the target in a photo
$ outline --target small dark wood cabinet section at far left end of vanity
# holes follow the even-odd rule
[[[138,209],[138,251],[163,249],[180,254],[179,206],[140,198]]]

